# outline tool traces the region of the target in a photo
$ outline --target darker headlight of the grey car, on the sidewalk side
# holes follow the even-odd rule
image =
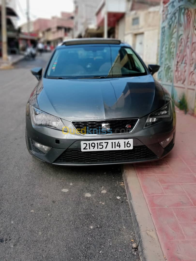
[[[150,127],[161,121],[171,121],[172,120],[172,100],[170,100],[166,105],[157,111],[152,112],[148,115],[144,128]]]

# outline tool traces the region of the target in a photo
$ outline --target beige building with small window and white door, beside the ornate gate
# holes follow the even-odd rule
[[[129,43],[148,64],[158,62],[161,1],[127,1],[116,26],[116,38]]]

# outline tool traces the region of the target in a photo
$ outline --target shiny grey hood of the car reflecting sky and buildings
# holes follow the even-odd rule
[[[64,120],[143,117],[164,106],[152,75],[114,79],[47,79],[37,88],[41,110]]]

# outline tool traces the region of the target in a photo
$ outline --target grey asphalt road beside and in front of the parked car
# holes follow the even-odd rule
[[[0,70],[0,260],[139,261],[120,166],[58,167],[26,149],[30,68],[49,56]]]

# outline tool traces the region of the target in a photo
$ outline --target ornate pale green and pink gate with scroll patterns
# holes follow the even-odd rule
[[[189,109],[196,98],[196,0],[172,0],[162,13],[158,79],[176,99],[184,92]]]

